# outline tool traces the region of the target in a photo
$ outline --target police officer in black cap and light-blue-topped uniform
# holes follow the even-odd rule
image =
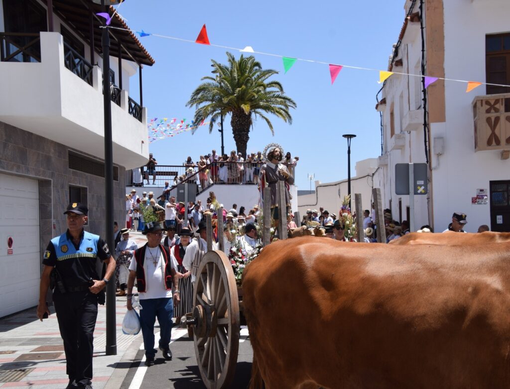
[[[72,203],[64,212],[67,231],[53,238],[44,252],[37,317],[49,314],[46,292],[50,275],[55,274],[53,301],[64,341],[69,388],[92,388],[93,332],[97,303],[104,303],[103,289],[115,271],[115,260],[108,245],[98,235],[84,231],[88,209]],[[105,277],[99,280],[96,258],[107,265]],[[53,274],[52,274],[53,271]]]

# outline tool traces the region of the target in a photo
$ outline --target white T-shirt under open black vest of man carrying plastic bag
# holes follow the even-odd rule
[[[154,260],[158,262],[155,264]],[[136,260],[132,260],[129,266],[130,270],[136,271]],[[143,262],[143,270],[145,271],[145,292],[140,292],[140,300],[149,298],[166,298],[172,297],[172,290],[166,290],[164,283],[165,261],[163,261],[163,253],[159,247],[145,248],[145,261]],[[173,261],[170,259],[170,266],[174,268]]]

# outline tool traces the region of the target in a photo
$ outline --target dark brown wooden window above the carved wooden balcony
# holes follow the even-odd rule
[[[510,82],[510,34],[487,35],[485,38],[486,79],[490,84]],[[510,93],[510,88],[487,86],[488,95]]]

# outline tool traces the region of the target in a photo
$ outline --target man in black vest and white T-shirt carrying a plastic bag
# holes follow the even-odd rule
[[[140,325],[145,348],[145,365],[154,365],[154,323],[156,316],[160,325],[159,349],[166,360],[172,359],[170,336],[172,329],[173,302],[181,301],[179,279],[172,264],[168,247],[161,244],[163,230],[159,223],[145,225],[143,234],[147,243],[135,251],[127,281],[127,309],[132,310],[133,285],[137,280],[140,296]],[[172,299],[172,284],[174,294]]]

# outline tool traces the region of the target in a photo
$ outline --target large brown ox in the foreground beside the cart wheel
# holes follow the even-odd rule
[[[243,303],[250,388],[510,387],[510,243],[278,241]]]

